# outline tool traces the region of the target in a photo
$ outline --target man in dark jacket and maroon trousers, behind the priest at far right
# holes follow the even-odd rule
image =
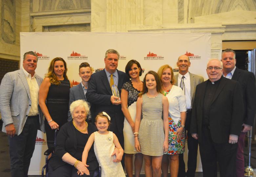
[[[243,103],[244,103],[244,116],[243,126],[237,142],[237,155],[236,155],[236,176],[244,177],[244,147],[245,147],[245,134],[251,129],[255,117],[256,109],[256,86],[255,76],[252,72],[238,69],[236,65],[236,54],[232,49],[226,49],[222,52],[223,62],[223,76],[238,81],[242,88]]]

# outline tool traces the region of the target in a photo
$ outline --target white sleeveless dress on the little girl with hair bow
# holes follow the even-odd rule
[[[125,177],[121,162],[113,162],[116,158],[111,156],[115,150],[113,132],[101,135],[94,132],[94,152],[101,167],[101,177]]]

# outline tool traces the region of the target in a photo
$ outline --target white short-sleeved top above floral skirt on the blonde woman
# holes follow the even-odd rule
[[[169,102],[169,115],[177,124],[181,120],[181,112],[186,112],[187,110],[184,92],[180,87],[173,85],[166,97]]]

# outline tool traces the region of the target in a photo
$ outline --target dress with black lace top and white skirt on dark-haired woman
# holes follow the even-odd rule
[[[131,81],[124,83],[122,89],[125,89],[128,91],[128,104],[127,104],[128,111],[131,115],[132,120],[135,122],[136,103],[137,103],[138,94],[140,93],[140,91],[133,87]],[[128,154],[140,153],[140,152],[134,151],[134,135],[133,135],[132,127],[130,126],[129,122],[126,119],[124,119],[124,122],[123,122],[123,136],[124,136],[124,153],[128,153]]]

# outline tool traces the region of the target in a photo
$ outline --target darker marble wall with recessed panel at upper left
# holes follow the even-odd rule
[[[91,31],[91,0],[0,0],[0,58],[20,60],[20,32]]]

